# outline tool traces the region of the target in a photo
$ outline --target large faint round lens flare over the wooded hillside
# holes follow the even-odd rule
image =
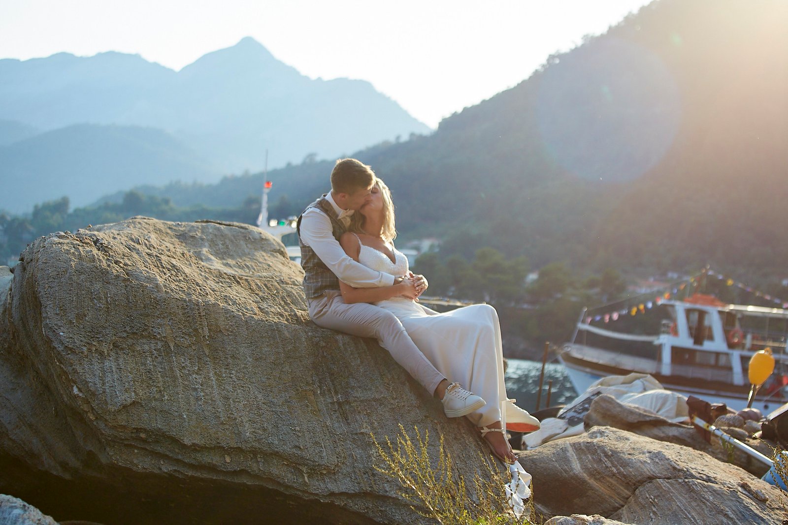
[[[682,116],[671,72],[623,39],[582,46],[550,64],[537,89],[537,126],[555,161],[583,179],[636,179],[670,148]]]

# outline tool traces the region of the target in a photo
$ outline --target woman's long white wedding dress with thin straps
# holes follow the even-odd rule
[[[393,250],[394,262],[385,253],[361,244],[359,262],[391,275],[408,272],[407,257]],[[487,405],[467,417],[477,427],[496,421],[505,424],[504,353],[498,313],[490,305],[471,305],[438,313],[406,298],[374,303],[392,312],[418,349],[446,376],[481,396]]]

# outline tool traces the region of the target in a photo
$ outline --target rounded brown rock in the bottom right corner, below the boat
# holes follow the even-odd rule
[[[610,427],[520,456],[536,510],[599,514],[623,523],[782,523],[782,492],[701,451]]]

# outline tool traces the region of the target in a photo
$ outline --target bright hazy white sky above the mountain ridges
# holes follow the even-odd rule
[[[251,36],[312,78],[370,81],[434,128],[647,3],[0,0],[0,58],[115,50],[180,69]]]

